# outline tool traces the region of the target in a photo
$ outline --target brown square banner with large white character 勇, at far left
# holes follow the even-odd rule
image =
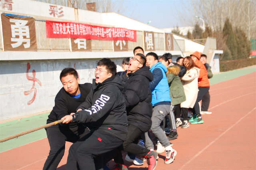
[[[37,51],[34,18],[1,14],[4,51]]]

